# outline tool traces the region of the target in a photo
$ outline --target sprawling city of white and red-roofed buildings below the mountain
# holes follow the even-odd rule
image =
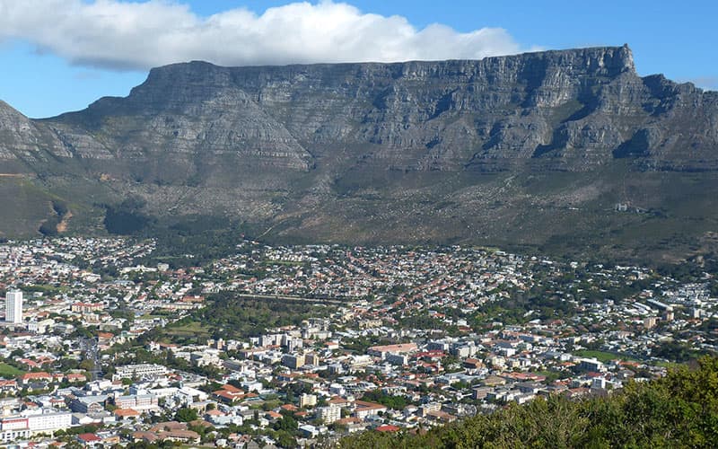
[[[171,269],[140,263],[153,248],[0,245],[0,439],[262,447],[412,431],[542,395],[610,394],[665,374],[664,345],[716,344],[709,274],[684,283],[458,246],[249,241]],[[162,333],[201,320],[218,292],[332,307],[235,339]]]

